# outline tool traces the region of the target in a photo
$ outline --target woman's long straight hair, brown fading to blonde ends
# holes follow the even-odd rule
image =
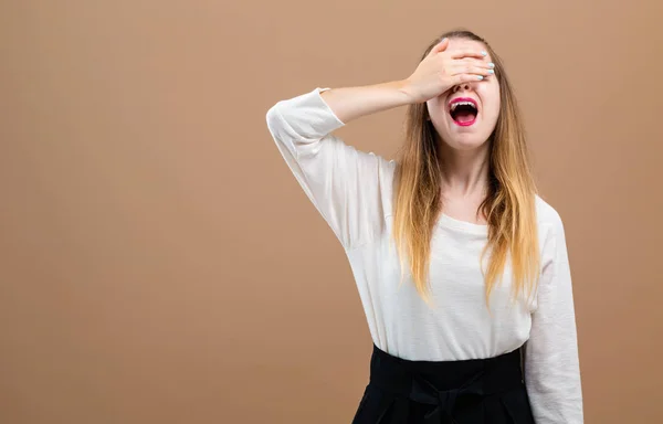
[[[486,198],[478,211],[488,224],[487,243],[480,264],[485,277],[486,304],[502,279],[511,261],[514,295],[534,292],[539,274],[539,251],[536,223],[536,184],[534,181],[525,129],[516,97],[504,72],[499,56],[488,43],[470,31],[442,34],[425,50],[423,60],[443,38],[467,39],[483,43],[495,63],[499,82],[501,110],[490,137],[490,181]],[[410,261],[410,272],[417,290],[428,301],[428,271],[432,232],[442,212],[439,136],[427,119],[425,103],[408,107],[404,142],[397,159],[394,176],[393,237],[401,269]],[[487,269],[484,257],[490,252]]]

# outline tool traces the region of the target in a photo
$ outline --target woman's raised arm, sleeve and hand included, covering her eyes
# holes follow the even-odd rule
[[[316,88],[277,102],[267,127],[297,182],[346,250],[382,230],[393,163],[333,135],[365,115],[424,102],[454,84],[488,75],[482,52],[445,52],[441,42],[406,78],[362,87]]]

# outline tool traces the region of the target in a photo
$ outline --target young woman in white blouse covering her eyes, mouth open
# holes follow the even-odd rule
[[[350,262],[373,341],[356,424],[582,423],[565,231],[504,67],[450,32],[408,78],[316,88],[267,125]],[[398,160],[332,135],[408,106]]]

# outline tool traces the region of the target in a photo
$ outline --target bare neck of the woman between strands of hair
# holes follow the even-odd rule
[[[477,195],[488,187],[490,142],[473,150],[457,150],[441,142],[442,190],[453,195]]]

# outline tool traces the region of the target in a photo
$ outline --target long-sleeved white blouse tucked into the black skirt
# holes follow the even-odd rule
[[[327,88],[324,88],[327,89]],[[541,275],[534,301],[511,303],[511,272],[490,301],[478,257],[487,226],[442,214],[434,229],[427,305],[391,240],[396,162],[346,145],[345,124],[315,88],[276,103],[269,129],[291,171],[340,241],[373,343],[409,360],[491,358],[525,343],[524,373],[537,424],[582,423],[573,295],[559,214],[537,197]]]

